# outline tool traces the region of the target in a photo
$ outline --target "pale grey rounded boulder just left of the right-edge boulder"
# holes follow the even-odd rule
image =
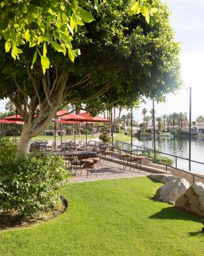
[[[175,202],[190,186],[191,184],[186,179],[171,180],[157,189],[156,196],[163,202]]]

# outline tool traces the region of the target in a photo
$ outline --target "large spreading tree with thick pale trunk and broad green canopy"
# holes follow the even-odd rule
[[[179,86],[166,4],[146,1],[131,16],[131,0],[94,2],[1,1],[0,96],[24,117],[18,157],[69,103],[96,114],[142,97],[161,100]],[[145,10],[154,8],[149,20]]]

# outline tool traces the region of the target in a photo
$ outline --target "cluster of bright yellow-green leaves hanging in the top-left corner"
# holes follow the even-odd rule
[[[95,0],[98,10],[98,0]],[[0,39],[5,40],[5,52],[11,52],[14,60],[22,54],[22,45],[36,47],[33,63],[40,56],[43,74],[50,67],[47,57],[47,45],[52,46],[71,61],[80,54],[73,49],[71,42],[84,22],[92,22],[92,13],[84,10],[84,1],[55,0],[3,0],[0,8]]]

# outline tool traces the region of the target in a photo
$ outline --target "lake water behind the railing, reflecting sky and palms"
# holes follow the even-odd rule
[[[141,137],[136,141],[135,145],[145,145],[148,148],[154,148],[153,138]],[[189,140],[188,138],[169,138],[157,137],[156,150],[164,153],[189,157]],[[191,140],[191,159],[204,163],[204,137],[193,137]],[[173,157],[173,160],[175,158]],[[188,170],[189,163],[187,160],[177,159],[177,168]],[[197,173],[204,174],[204,165],[191,163],[191,170]]]

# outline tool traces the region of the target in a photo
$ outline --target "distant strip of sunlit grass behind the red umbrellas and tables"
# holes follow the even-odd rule
[[[15,140],[15,138],[13,136],[9,137],[10,140]],[[62,136],[62,140],[74,140],[74,136],[73,135],[65,135]],[[92,140],[92,139],[96,139],[99,138],[99,135],[95,135],[95,136],[91,136],[91,135],[87,135],[87,139],[88,140]],[[20,140],[20,136],[17,136],[17,140]],[[54,136],[37,136],[35,138],[33,138],[32,140],[52,140],[54,141]],[[56,140],[61,140],[61,136],[57,136]],[[85,140],[85,135],[82,134],[80,137],[76,135],[76,140]],[[121,134],[121,133],[115,133],[113,134],[113,140],[119,140],[119,141],[131,141],[131,137]],[[135,138],[136,140],[136,138]]]

